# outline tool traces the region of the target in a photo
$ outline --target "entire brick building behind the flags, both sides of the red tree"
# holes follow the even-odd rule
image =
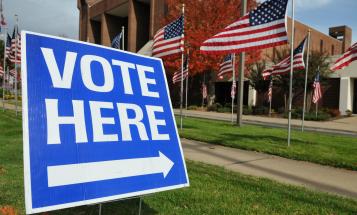
[[[125,27],[125,49],[131,52],[150,54],[150,41],[155,32],[162,27],[161,19],[167,8],[165,0],[78,0],[79,38],[96,44],[110,46],[113,38]],[[291,35],[291,20],[288,20],[288,33]],[[331,27],[329,35],[319,32],[299,21],[295,22],[295,46],[311,30],[311,50],[326,52],[332,57],[341,55],[352,43],[352,29],[347,26]],[[290,36],[289,36],[290,37]],[[280,46],[263,50],[263,56],[274,57],[276,50],[288,49]],[[145,51],[146,50],[146,51]],[[147,51],[149,50],[149,51]],[[347,73],[341,71],[331,76],[330,87],[325,91],[322,105],[340,109],[342,113],[353,110],[357,113],[357,65],[353,64]],[[349,75],[350,74],[350,75]],[[261,97],[245,86],[244,101],[255,105]],[[230,83],[219,83],[216,98],[230,95]],[[356,87],[354,87],[356,86]],[[222,100],[223,98],[221,98]],[[225,99],[225,98],[224,98]],[[278,104],[279,105],[279,104]]]

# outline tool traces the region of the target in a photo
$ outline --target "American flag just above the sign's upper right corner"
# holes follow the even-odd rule
[[[152,56],[164,57],[183,52],[184,17],[160,29],[154,36]]]

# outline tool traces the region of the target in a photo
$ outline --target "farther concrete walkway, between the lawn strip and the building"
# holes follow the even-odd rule
[[[174,112],[175,114],[179,114],[180,110],[175,109]],[[232,118],[229,113],[184,110],[184,114],[190,117],[224,121],[231,121]],[[234,116],[234,120],[236,120],[236,115]],[[288,120],[283,118],[243,115],[243,123],[286,128]],[[293,119],[292,127],[301,129],[301,120]],[[357,136],[357,117],[347,117],[326,122],[305,121],[305,130]]]

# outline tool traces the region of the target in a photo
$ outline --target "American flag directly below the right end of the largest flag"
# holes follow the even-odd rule
[[[293,69],[302,70],[305,69],[304,63],[304,51],[306,38],[300,43],[300,45],[294,50]],[[280,63],[273,67],[263,71],[263,78],[266,80],[269,76],[282,75],[290,72],[290,55],[282,60]]]

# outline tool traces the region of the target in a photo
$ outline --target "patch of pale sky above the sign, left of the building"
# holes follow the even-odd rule
[[[78,39],[77,0],[2,0],[10,33],[19,17],[20,30]]]

